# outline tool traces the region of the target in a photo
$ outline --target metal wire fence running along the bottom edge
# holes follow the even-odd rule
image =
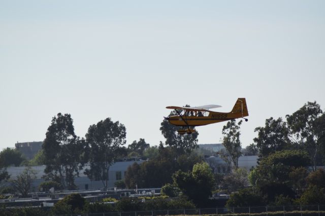
[[[265,215],[265,216],[325,216],[325,205],[289,205],[259,207],[216,207],[194,209],[169,209],[151,211],[113,211],[59,216],[156,216],[156,215]]]

